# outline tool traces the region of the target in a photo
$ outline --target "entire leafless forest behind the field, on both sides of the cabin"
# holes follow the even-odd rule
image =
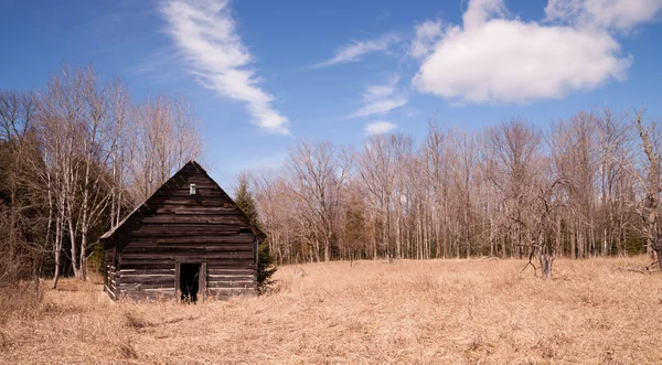
[[[254,200],[275,260],[662,250],[662,130],[643,109],[478,131],[442,119],[421,121],[418,140],[298,139],[280,169],[241,172],[235,187]],[[84,279],[99,267],[98,237],[200,158],[201,136],[184,96],[138,100],[93,66],[65,64],[41,88],[0,90],[0,279]]]

